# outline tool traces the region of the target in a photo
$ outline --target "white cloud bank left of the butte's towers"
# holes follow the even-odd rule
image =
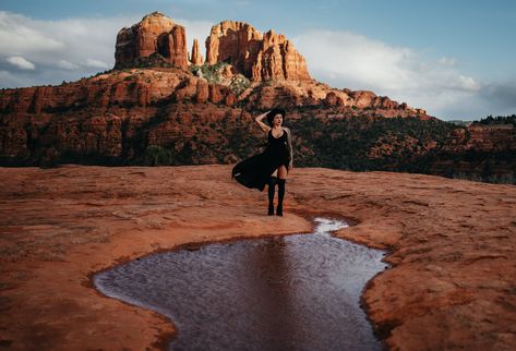
[[[116,16],[38,21],[0,11],[0,70],[11,73],[0,87],[59,84],[112,68],[118,31],[140,20]],[[13,64],[19,69],[29,65],[20,59],[15,63],[7,61],[11,57],[21,57],[38,69],[32,75],[13,74]]]

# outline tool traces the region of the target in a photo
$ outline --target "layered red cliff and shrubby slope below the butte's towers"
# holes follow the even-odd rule
[[[514,181],[511,126],[443,129],[406,104],[319,83],[253,83],[237,93],[173,68],[1,92],[0,164],[235,162],[262,143],[252,117],[276,105],[296,131],[297,166]]]

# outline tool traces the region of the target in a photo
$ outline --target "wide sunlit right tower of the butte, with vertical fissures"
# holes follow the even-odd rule
[[[262,35],[243,22],[224,21],[212,27],[206,62],[228,62],[255,82],[311,80],[304,58],[284,35]]]

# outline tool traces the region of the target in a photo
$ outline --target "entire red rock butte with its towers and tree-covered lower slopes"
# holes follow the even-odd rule
[[[514,122],[460,126],[373,92],[333,88],[310,77],[285,36],[245,23],[214,25],[206,60],[197,41],[189,55],[184,37],[152,13],[118,34],[116,69],[0,90],[0,166],[232,164],[264,143],[253,117],[281,106],[298,167],[516,179]]]

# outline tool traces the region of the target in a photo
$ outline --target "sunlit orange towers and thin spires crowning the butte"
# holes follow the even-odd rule
[[[117,35],[115,68],[137,65],[153,55],[165,62],[188,69],[187,34],[160,12],[153,12],[130,28]],[[304,58],[281,34],[269,31],[262,35],[252,25],[224,21],[214,25],[206,38],[206,62],[227,62],[236,72],[253,81],[310,81]],[[201,64],[199,43],[192,47],[191,63]]]

